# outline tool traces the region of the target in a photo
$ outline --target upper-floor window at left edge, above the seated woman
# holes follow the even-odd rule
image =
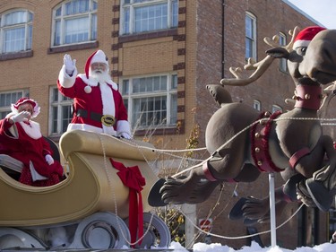
[[[31,49],[32,18],[32,13],[25,10],[16,10],[0,15],[2,54]]]

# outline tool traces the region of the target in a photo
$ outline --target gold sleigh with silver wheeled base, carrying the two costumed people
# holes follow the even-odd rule
[[[129,189],[109,158],[125,167],[138,166],[146,180],[142,189],[145,237],[141,246],[169,245],[168,227],[149,213],[147,196],[157,181],[151,164],[158,156],[150,143],[74,130],[62,135],[59,150],[67,164],[67,176],[51,187],[23,185],[8,172],[8,167],[20,169],[20,164],[8,156],[1,162],[0,157],[0,191],[5,203],[0,208],[0,248],[50,248],[50,230],[59,227],[66,231],[68,241],[61,244],[65,248],[129,246]],[[103,242],[101,237],[105,238]]]

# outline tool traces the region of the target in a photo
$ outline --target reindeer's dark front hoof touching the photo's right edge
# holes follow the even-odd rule
[[[329,191],[326,187],[323,186],[322,182],[316,181],[314,178],[306,179],[306,187],[316,206],[323,212],[328,212],[332,206],[336,189],[334,188]]]

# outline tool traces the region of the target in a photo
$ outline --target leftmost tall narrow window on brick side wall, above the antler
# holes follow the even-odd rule
[[[256,60],[256,18],[251,13],[246,13],[246,59],[252,57]]]

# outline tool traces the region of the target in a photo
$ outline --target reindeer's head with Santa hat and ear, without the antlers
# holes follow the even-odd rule
[[[336,80],[336,30],[307,27],[297,34],[292,50],[271,48],[266,53],[288,59],[289,74],[296,85],[324,85]]]

